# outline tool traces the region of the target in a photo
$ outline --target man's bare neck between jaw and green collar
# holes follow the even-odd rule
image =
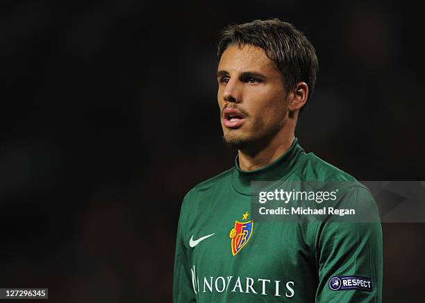
[[[294,141],[294,132],[279,132],[267,142],[265,147],[256,151],[238,150],[239,167],[242,171],[253,171],[267,166],[288,150]]]

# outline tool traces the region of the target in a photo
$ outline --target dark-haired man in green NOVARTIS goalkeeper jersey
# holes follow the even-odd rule
[[[251,182],[261,180],[276,194],[277,186],[318,193],[314,182],[337,182],[333,206],[376,210],[363,184],[305,153],[294,137],[315,86],[313,46],[292,24],[256,20],[228,26],[218,58],[224,140],[238,155],[233,168],[183,200],[174,302],[381,302],[380,223],[252,219]]]

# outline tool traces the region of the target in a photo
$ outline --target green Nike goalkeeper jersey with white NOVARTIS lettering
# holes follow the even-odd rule
[[[343,181],[340,199],[376,207],[363,184],[305,153],[297,139],[256,171],[242,171],[237,157],[233,168],[198,184],[183,200],[174,302],[381,302],[378,220],[256,222],[251,182],[258,180]]]

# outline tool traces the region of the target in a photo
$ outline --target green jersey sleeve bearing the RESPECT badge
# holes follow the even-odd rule
[[[367,189],[355,187],[344,199],[341,205],[356,199],[359,207],[377,214]],[[317,228],[317,266],[316,302],[381,302],[383,256],[378,218],[371,223],[321,223]]]

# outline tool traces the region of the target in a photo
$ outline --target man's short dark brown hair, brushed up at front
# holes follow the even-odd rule
[[[232,44],[260,47],[281,72],[287,92],[303,81],[308,85],[308,97],[313,94],[319,69],[315,48],[292,24],[276,18],[228,25],[218,43],[218,60]]]

